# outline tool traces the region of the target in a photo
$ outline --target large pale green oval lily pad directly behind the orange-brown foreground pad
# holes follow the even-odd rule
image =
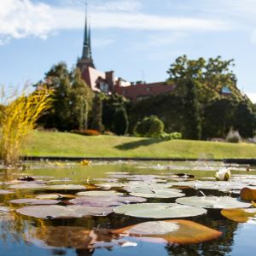
[[[139,218],[185,218],[205,214],[207,210],[176,203],[142,203],[114,207],[113,212]]]

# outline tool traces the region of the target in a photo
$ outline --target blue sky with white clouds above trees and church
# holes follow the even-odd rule
[[[167,79],[179,55],[235,59],[256,102],[256,0],[88,0],[97,69],[129,81]],[[35,83],[82,54],[84,0],[0,0],[0,84]]]

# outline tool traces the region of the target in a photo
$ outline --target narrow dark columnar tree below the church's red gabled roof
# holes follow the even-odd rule
[[[100,94],[94,96],[91,114],[91,129],[102,132],[102,98]]]

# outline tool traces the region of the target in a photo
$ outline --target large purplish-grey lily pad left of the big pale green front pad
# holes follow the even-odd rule
[[[81,207],[81,206],[36,206],[22,207],[16,212],[35,218],[82,218],[84,216],[106,216],[112,207]]]

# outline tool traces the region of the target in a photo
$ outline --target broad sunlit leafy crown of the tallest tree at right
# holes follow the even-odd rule
[[[198,90],[199,102],[207,104],[221,97],[221,90],[228,87],[231,97],[243,99],[240,90],[236,88],[236,75],[231,70],[234,60],[224,61],[220,56],[205,60],[189,60],[186,55],[180,56],[167,71],[169,84],[176,84],[176,93],[183,95],[185,84],[192,80]]]

